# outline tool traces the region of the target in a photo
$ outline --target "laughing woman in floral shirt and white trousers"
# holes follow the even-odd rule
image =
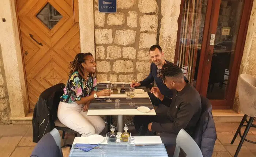
[[[68,68],[69,78],[60,97],[58,118],[82,137],[99,134],[105,123],[100,116],[88,116],[87,110],[91,100],[98,96],[109,96],[110,90],[97,92],[96,63],[91,53],[77,54]]]

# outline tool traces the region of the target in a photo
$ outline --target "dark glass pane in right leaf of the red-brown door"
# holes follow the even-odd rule
[[[243,7],[244,0],[221,1],[208,81],[208,99],[226,98]]]

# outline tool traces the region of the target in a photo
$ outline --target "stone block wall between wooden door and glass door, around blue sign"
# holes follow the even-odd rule
[[[143,80],[150,71],[150,46],[157,43],[156,0],[117,0],[116,13],[100,13],[94,1],[98,80]]]

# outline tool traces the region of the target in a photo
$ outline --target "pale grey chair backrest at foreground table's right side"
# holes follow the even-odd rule
[[[187,154],[187,157],[203,157],[199,146],[184,129],[181,129],[177,135],[173,157],[179,156],[180,148]]]

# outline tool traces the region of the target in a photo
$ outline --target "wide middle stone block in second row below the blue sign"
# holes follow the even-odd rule
[[[117,30],[114,42],[117,45],[131,45],[135,42],[136,31],[134,30]]]

